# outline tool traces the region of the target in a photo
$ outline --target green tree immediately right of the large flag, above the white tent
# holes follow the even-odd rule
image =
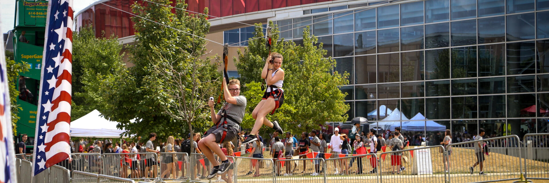
[[[124,69],[124,62],[117,38],[96,38],[91,26],[75,32],[73,43],[71,118],[74,120],[100,108],[98,104],[103,97],[99,88],[109,75]]]

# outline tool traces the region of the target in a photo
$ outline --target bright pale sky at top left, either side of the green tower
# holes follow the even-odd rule
[[[72,7],[74,8],[75,15],[80,10],[86,8],[89,4],[95,2],[94,0],[74,0],[72,1]],[[6,33],[13,29],[13,22],[15,18],[15,0],[0,0],[0,31]]]

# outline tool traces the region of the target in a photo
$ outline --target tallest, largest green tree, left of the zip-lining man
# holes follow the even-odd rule
[[[213,93],[208,92],[209,87],[214,85],[204,84],[197,85],[201,88],[193,88],[195,86],[192,84],[215,80],[218,75],[215,65],[204,65],[209,62],[208,59],[197,59],[205,54],[205,40],[182,31],[205,37],[210,24],[203,15],[189,15],[180,9],[172,13],[173,7],[166,6],[171,4],[169,0],[154,2],[159,4],[135,3],[132,12],[175,29],[137,16],[132,17],[137,41],[129,47],[129,59],[135,66],[105,80],[102,112],[106,117],[119,121],[117,127],[124,127],[128,135],[136,134],[146,138],[150,132],[155,132],[159,140],[170,135],[187,137],[190,125],[185,122],[192,123],[192,127],[200,131],[211,124],[206,123],[208,120],[204,118],[207,115],[202,114],[208,97],[201,96],[212,96]],[[187,4],[178,0],[175,7],[186,9]],[[207,9],[204,12],[208,14]],[[189,71],[192,70],[189,68],[196,70]],[[196,73],[192,72],[201,72],[203,75],[193,75]],[[198,97],[191,96],[192,93],[200,92],[205,93]],[[176,98],[176,95],[183,98]],[[187,103],[193,103],[194,106],[204,104],[204,107],[196,110],[177,108]],[[130,122],[132,119],[136,122]]]

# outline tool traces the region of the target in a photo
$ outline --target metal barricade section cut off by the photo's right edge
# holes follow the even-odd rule
[[[549,180],[549,134],[526,134],[523,143],[525,178]]]

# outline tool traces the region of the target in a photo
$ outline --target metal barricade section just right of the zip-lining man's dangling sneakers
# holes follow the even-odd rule
[[[234,178],[238,182],[275,182],[273,159],[234,158]]]

